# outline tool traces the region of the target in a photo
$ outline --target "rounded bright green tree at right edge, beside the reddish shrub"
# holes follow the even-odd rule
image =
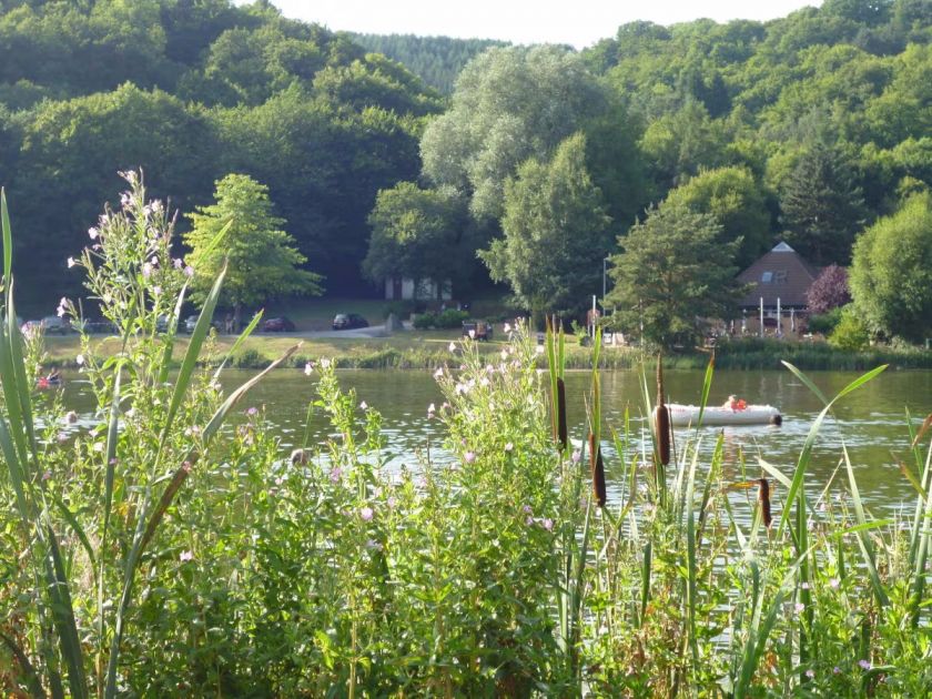
[[[861,234],[849,283],[871,331],[911,342],[932,335],[932,194],[911,196]]]

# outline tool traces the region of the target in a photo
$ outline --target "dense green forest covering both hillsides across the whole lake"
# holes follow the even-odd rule
[[[262,0],[0,9],[0,183],[33,301],[73,290],[64,261],[133,166],[182,211],[231,172],[267,185],[328,293],[428,269],[462,296],[490,273],[555,310],[601,291],[651,204],[715,216],[722,264],[787,240],[847,265],[932,185],[929,0],[492,47],[446,98],[482,42],[334,34]]]

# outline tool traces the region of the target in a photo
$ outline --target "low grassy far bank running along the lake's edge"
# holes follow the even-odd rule
[[[504,347],[504,333],[498,340],[477,343],[483,354],[496,355]],[[450,364],[449,343],[459,341],[455,331],[408,331],[388,337],[315,337],[302,335],[256,334],[247,337],[232,356],[239,368],[263,368],[296,343],[301,348],[287,366],[304,366],[308,361],[327,357],[340,368],[434,368]],[[207,362],[222,361],[233,348],[234,335],[217,335]],[[176,355],[188,346],[188,337],[179,336]],[[77,335],[49,336],[45,341],[49,362],[64,367],[77,366],[82,353]],[[92,336],[93,354],[108,356],[119,351],[120,342],[113,337]],[[569,368],[590,368],[589,347],[570,342],[567,346]],[[668,354],[663,364],[668,368],[702,368],[709,362],[709,351]],[[932,351],[921,348],[872,347],[851,352],[832,347],[823,342],[780,342],[749,338],[723,342],[715,348],[716,366],[728,369],[781,368],[781,361],[790,362],[806,371],[865,371],[889,364],[893,368],[932,368]],[[632,368],[640,366],[644,352],[638,347],[611,346],[601,353],[604,368]],[[541,356],[543,366],[543,356]]]

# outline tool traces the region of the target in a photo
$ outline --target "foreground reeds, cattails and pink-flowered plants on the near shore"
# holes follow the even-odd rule
[[[185,273],[171,219],[128,178],[123,207],[92,232],[100,249],[78,263],[125,341],[98,359],[84,338],[75,357],[98,403],[91,424],[37,391],[41,335],[0,328],[6,693],[919,697],[932,686],[932,417],[904,426],[912,446],[894,458],[915,500],[895,520],[864,508],[843,448],[832,483],[808,474],[823,422],[883,366],[829,397],[788,365],[824,403],[797,464],[726,465],[720,434],[672,442],[646,377],[631,396],[652,416],[646,448],[628,415],[604,424],[598,368],[585,405],[567,405],[578,348],[519,326],[494,352],[444,347],[443,402],[423,416],[443,426],[444,452],[425,445],[389,470],[379,414],[340,386],[336,362],[292,348],[280,361],[303,363],[308,414],[331,437],[284,450],[249,403],[262,375],[225,395],[229,362],[197,362],[222,276],[170,373]],[[14,318],[3,229],[0,317]],[[62,300],[61,312],[77,310]],[[596,367],[611,354],[600,336],[585,352]],[[703,404],[712,381],[710,364]],[[569,433],[568,412],[584,411]]]

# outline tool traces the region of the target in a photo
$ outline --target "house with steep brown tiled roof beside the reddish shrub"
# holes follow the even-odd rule
[[[738,275],[740,282],[749,285],[740,302],[742,332],[752,335],[799,332],[799,321],[808,316],[809,287],[817,276],[818,267],[787,243],[778,244]]]

